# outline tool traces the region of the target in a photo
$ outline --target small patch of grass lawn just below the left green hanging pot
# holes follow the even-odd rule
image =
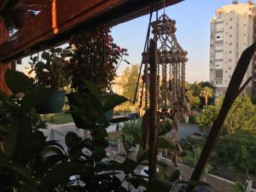
[[[46,120],[50,124],[55,124],[55,125],[67,124],[67,123],[73,122],[71,114],[69,113],[43,115],[42,119]]]

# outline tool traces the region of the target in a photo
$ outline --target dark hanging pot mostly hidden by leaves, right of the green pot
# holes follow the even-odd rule
[[[74,97],[77,96],[75,94],[68,94],[67,99],[68,103],[70,105],[70,110],[73,111],[72,105],[76,105],[78,103],[75,103]],[[84,124],[84,121],[79,117],[76,113],[71,113],[74,124],[80,128],[80,129],[86,129],[87,125]],[[110,120],[113,118],[113,109],[105,112],[106,119]]]

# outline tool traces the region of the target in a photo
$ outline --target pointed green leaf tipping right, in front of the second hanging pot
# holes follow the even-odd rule
[[[106,96],[103,96],[102,106],[104,111],[106,112],[118,106],[119,104],[122,104],[123,102],[127,102],[127,101],[128,100],[125,98],[125,96],[108,94]]]

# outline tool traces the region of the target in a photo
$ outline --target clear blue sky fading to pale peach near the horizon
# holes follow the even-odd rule
[[[246,3],[247,0],[238,2]],[[166,8],[166,15],[176,20],[178,43],[189,53],[186,64],[186,79],[189,83],[209,80],[210,20],[216,9],[230,3],[232,0],[184,0]],[[163,9],[159,15],[162,13]],[[142,60],[148,19],[149,15],[145,15],[112,28],[114,42],[128,49],[126,60],[131,64],[140,64]],[[27,63],[27,60],[23,62]],[[125,67],[127,65],[122,64],[118,73]]]

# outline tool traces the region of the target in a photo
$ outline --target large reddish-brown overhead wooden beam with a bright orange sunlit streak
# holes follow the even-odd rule
[[[183,0],[166,0],[166,6]],[[149,13],[153,0],[51,1],[27,20],[20,32],[0,44],[0,61],[30,55],[62,44],[74,33],[94,26],[113,26]],[[161,1],[160,1],[161,2]],[[55,3],[55,4],[54,4]],[[160,3],[160,8],[163,3]]]

